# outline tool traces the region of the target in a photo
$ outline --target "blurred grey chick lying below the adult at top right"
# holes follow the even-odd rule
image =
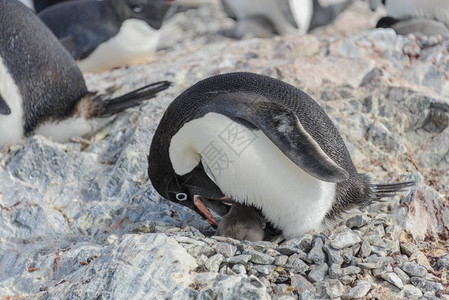
[[[383,17],[377,22],[376,28],[391,28],[400,35],[449,35],[449,29],[443,23],[426,18],[401,21],[392,17]]]

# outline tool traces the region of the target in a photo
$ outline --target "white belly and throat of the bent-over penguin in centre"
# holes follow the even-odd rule
[[[262,131],[250,131],[221,114],[184,124],[169,153],[180,175],[203,160],[226,196],[260,208],[286,238],[322,229],[335,198],[334,183],[305,173]]]

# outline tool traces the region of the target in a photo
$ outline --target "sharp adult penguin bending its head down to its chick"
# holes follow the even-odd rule
[[[412,185],[371,184],[312,98],[252,73],[210,77],[178,96],[154,134],[148,173],[167,199],[204,212],[199,196],[230,197],[286,238]]]

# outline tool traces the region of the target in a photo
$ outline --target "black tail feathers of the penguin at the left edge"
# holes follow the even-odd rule
[[[137,106],[145,100],[156,97],[159,92],[170,86],[171,82],[169,81],[159,81],[112,99],[105,100],[104,95],[98,95],[92,100],[95,102],[96,108],[92,116],[99,118],[113,116],[125,109]]]

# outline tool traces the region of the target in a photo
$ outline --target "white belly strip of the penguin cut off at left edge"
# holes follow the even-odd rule
[[[0,95],[9,106],[9,115],[0,114],[0,149],[23,139],[23,101],[19,88],[14,83],[0,57]]]

